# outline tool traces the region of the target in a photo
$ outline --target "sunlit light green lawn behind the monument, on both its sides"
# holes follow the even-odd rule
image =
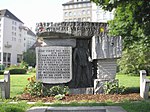
[[[11,90],[10,95],[11,97],[15,97],[16,95],[22,94],[25,86],[28,83],[27,78],[35,75],[35,73],[32,74],[20,74],[20,75],[11,75]],[[3,75],[0,75],[0,79],[3,78]],[[140,77],[139,76],[130,76],[130,75],[123,75],[118,74],[116,75],[116,78],[119,79],[119,85],[125,86],[128,88],[137,88],[139,90],[140,86]],[[150,76],[148,77],[150,78]]]

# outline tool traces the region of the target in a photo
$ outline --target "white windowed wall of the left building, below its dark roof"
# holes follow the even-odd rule
[[[3,30],[1,37],[1,54],[3,53],[11,53],[11,63],[17,64],[17,54],[22,55],[25,50],[25,40],[24,40],[24,29],[20,29],[19,27],[23,25],[23,23],[9,19],[7,17],[3,17]],[[1,55],[1,63],[3,62],[3,55]]]

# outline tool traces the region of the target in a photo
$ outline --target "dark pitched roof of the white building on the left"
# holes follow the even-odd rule
[[[0,10],[0,17],[7,17],[13,19],[15,21],[23,23],[20,19],[18,19],[14,14],[12,14],[8,9]]]

